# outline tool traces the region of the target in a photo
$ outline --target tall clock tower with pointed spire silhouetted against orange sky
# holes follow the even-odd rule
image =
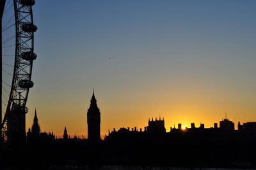
[[[87,112],[88,139],[90,141],[100,140],[100,109],[97,106],[97,100],[92,93],[91,105]]]

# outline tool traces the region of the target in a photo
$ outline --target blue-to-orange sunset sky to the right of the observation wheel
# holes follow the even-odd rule
[[[213,127],[256,121],[256,1],[36,1],[27,128],[87,137],[92,89],[101,133],[164,116]]]

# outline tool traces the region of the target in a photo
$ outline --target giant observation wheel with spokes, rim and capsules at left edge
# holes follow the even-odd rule
[[[34,53],[32,6],[35,0],[1,0],[2,19],[2,86],[1,86],[1,137],[4,141],[25,139],[26,113]],[[1,4],[2,6],[2,4]]]

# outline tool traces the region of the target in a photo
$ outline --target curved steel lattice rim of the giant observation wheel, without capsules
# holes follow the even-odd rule
[[[30,86],[27,87],[20,85],[20,82],[31,82],[33,68],[33,59],[24,59],[22,58],[22,54],[25,52],[35,54],[33,53],[35,31],[29,30],[29,26],[35,26],[33,24],[33,4],[22,4],[28,2],[34,2],[35,4],[34,0],[13,0],[13,10],[15,15],[15,59],[13,65],[12,86],[10,89],[8,104],[6,105],[4,112],[4,118],[1,122],[1,135],[3,138],[7,137],[6,131],[8,130],[8,116],[10,116],[9,114],[12,107],[17,105],[17,100],[19,100],[19,104],[25,108],[28,100],[29,88],[31,88]],[[24,13],[26,15],[24,15]],[[27,29],[26,24],[28,26]]]

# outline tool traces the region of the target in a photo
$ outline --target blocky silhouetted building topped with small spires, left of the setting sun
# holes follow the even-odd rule
[[[166,129],[164,127],[164,118],[163,120],[161,120],[161,118],[159,118],[159,120],[157,120],[157,118],[153,120],[152,118],[151,121],[148,119],[147,131],[148,132],[166,132]]]

